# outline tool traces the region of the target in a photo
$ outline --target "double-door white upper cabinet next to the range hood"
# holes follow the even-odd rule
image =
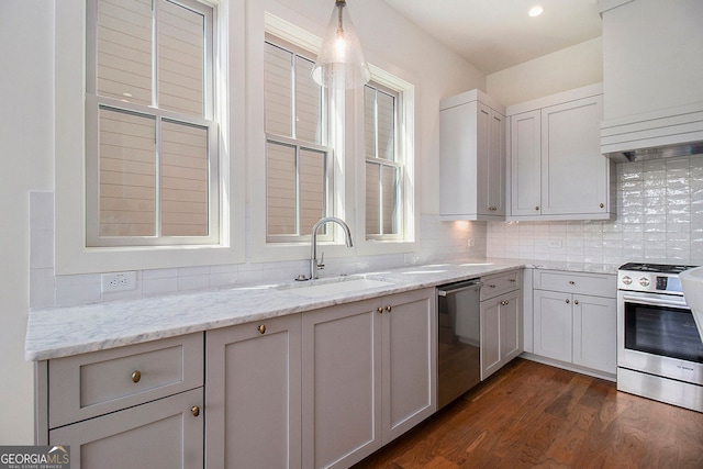
[[[601,85],[507,108],[511,220],[609,220],[613,163],[601,154]]]

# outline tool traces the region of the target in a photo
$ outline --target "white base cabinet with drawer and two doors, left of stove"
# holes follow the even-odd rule
[[[617,345],[614,276],[535,270],[534,282],[534,354],[612,379]]]

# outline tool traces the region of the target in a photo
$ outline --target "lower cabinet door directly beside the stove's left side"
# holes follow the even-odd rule
[[[616,372],[617,301],[573,295],[573,362]]]

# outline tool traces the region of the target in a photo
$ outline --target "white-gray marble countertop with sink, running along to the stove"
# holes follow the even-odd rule
[[[435,287],[521,267],[596,273],[616,271],[616,267],[609,266],[479,259],[315,280],[315,284],[356,278],[387,282],[365,290],[320,297],[301,294],[301,288],[313,283],[291,281],[36,310],[30,312],[24,354],[27,361],[66,357]]]

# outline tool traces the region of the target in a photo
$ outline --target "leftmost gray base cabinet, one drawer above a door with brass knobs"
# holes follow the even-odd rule
[[[202,333],[37,367],[48,380],[47,444],[69,445],[71,468],[203,467]]]

